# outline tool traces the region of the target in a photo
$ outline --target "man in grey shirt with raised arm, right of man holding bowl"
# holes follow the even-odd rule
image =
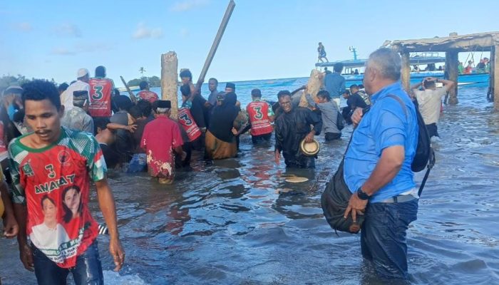
[[[320,90],[317,93],[319,102],[314,102],[312,96],[307,94],[307,102],[314,108],[321,110],[322,114],[322,129],[324,130],[326,141],[338,140],[341,138],[341,130],[338,129],[338,105],[334,100],[331,100],[329,92]]]

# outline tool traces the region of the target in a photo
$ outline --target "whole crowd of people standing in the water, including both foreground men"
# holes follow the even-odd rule
[[[326,141],[341,138],[341,120],[346,119],[355,129],[341,163],[352,193],[345,217],[351,214],[355,222],[357,214],[365,215],[361,252],[376,272],[407,279],[406,230],[418,209],[410,167],[418,141],[411,98],[431,135],[438,136],[441,98],[455,83],[425,78],[408,95],[401,87],[400,66],[396,53],[381,48],[369,57],[364,86],[346,90],[343,66],[337,63],[334,72],[324,73],[315,100],[307,86],[300,88],[308,108],[294,103],[297,90],[279,91],[272,104],[262,100],[257,88],[252,102],[242,108],[237,86],[227,83],[219,92],[215,78],[208,81],[205,99],[202,81],[194,84],[190,71],[182,70],[182,105],[175,117],[171,102],[160,100],[147,82],[140,83],[137,97],[120,95],[103,66],[93,78],[81,68],[76,81],[58,88],[48,81],[11,86],[0,106],[0,147],[6,151],[9,146],[10,162],[0,184],[5,236],[17,235],[21,261],[35,271],[38,283],[59,284],[71,272],[77,284],[101,284],[98,224],[88,209],[91,182],[109,229],[116,270],[125,259],[108,169],[128,165],[127,172],[147,171],[159,183],[171,184],[175,169],[190,165],[193,151],[202,152],[207,162],[235,157],[240,135],[248,131],[255,145],[270,146],[274,133],[277,164],[284,157],[287,167],[313,168],[316,156],[303,152],[302,142],[321,133]],[[346,99],[343,110],[341,95]],[[389,98],[393,96],[405,108]],[[379,212],[386,213],[383,219]]]

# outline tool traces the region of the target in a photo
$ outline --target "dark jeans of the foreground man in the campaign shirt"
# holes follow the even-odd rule
[[[71,269],[57,266],[36,247],[33,247],[33,262],[39,285],[66,284],[69,272],[73,274],[76,285],[104,284],[97,240],[83,254],[76,257],[76,266]]]

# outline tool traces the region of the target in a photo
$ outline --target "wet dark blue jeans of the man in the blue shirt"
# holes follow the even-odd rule
[[[418,199],[369,203],[361,229],[362,257],[385,279],[407,279],[408,225],[417,219]]]

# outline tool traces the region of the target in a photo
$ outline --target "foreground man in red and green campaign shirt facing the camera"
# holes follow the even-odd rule
[[[115,271],[125,252],[101,147],[91,134],[61,127],[64,108],[53,83],[36,80],[23,87],[24,121],[34,132],[9,145],[21,261],[35,271],[38,284],[66,284],[69,272],[76,284],[103,284],[98,224],[88,208],[91,181],[108,225]]]

